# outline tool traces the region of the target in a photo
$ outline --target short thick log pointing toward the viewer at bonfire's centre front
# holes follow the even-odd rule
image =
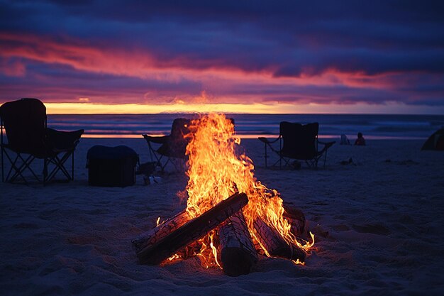
[[[223,272],[230,276],[250,273],[257,263],[257,253],[242,211],[223,222],[218,233]]]

